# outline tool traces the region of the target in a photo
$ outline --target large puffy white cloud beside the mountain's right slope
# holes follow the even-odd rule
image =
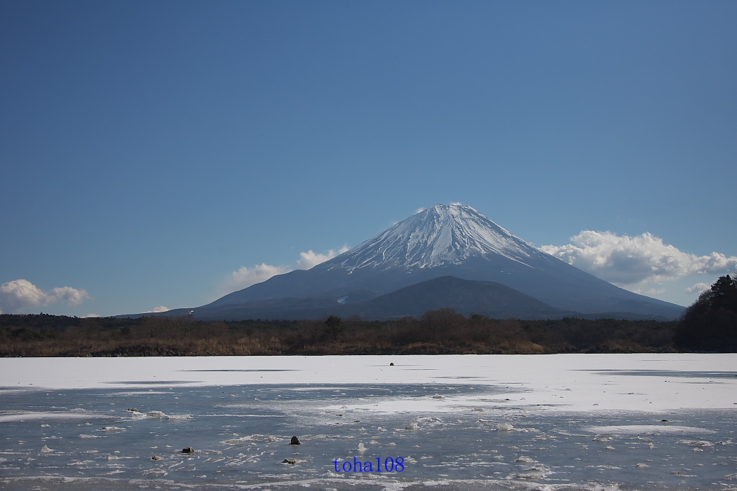
[[[658,283],[683,276],[723,274],[737,269],[737,257],[719,252],[695,255],[682,252],[651,233],[618,236],[612,232],[583,230],[572,244],[542,246],[568,264],[619,286]]]

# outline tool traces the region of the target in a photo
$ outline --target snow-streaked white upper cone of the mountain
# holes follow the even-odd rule
[[[525,263],[539,251],[470,206],[435,205],[329,261],[348,269],[461,264],[475,255],[498,254]]]

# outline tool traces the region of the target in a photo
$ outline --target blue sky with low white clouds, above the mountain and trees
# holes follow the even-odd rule
[[[737,269],[736,21],[734,1],[1,1],[0,310],[203,305],[450,202],[688,305]]]

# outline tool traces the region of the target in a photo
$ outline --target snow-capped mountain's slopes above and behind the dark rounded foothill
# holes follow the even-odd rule
[[[275,276],[206,307],[307,297],[351,303],[352,292],[363,291],[365,299],[366,292],[378,296],[444,276],[500,283],[564,311],[666,318],[682,312],[570,266],[462,205],[427,208],[310,270]]]

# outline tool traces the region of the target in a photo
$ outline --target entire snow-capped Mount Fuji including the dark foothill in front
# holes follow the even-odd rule
[[[683,311],[595,278],[464,205],[435,205],[312,269],[178,311],[200,319],[386,319],[443,307],[523,319],[675,319]]]

